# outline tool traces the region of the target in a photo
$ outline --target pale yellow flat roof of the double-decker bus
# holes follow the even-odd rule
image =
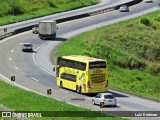
[[[74,61],[80,61],[80,62],[94,62],[94,61],[106,61],[103,59],[83,56],[83,55],[70,55],[70,56],[62,56],[64,59],[74,60]]]

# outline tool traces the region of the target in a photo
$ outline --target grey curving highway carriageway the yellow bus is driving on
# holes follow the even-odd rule
[[[99,106],[92,105],[91,99],[93,95],[79,95],[74,91],[57,87],[54,73],[52,72],[52,57],[55,47],[67,38],[78,34],[77,32],[90,30],[90,26],[98,26],[107,21],[114,21],[115,19],[130,16],[139,11],[155,7],[157,4],[158,1],[149,4],[142,2],[130,7],[130,12],[120,13],[116,10],[97,16],[58,24],[58,38],[53,41],[40,40],[37,35],[32,34],[32,31],[12,36],[5,39],[5,41],[0,41],[0,77],[9,81],[10,77],[15,75],[16,83],[25,88],[45,95],[46,90],[51,88],[53,90],[53,98],[64,100],[78,106],[100,110]],[[32,43],[34,45],[34,52],[22,52],[21,44],[23,42]],[[159,102],[117,91],[110,92],[117,97],[118,107],[106,107],[104,108],[104,111],[160,111]],[[72,98],[85,98],[85,101],[75,102],[71,100]]]

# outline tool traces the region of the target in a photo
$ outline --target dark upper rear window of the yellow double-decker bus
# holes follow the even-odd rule
[[[89,69],[93,68],[106,68],[106,62],[105,61],[94,61],[89,63]]]

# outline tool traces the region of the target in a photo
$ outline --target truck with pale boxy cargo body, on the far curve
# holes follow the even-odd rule
[[[39,22],[39,38],[40,39],[54,39],[56,38],[56,21],[43,20]]]

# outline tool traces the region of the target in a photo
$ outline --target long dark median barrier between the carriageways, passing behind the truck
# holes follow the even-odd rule
[[[113,5],[111,7],[107,7],[105,9],[101,9],[101,10],[96,10],[96,11],[93,11],[93,12],[90,12],[90,13],[84,13],[84,14],[80,14],[80,15],[70,16],[70,17],[67,17],[67,18],[57,19],[56,22],[57,23],[62,23],[62,22],[66,22],[66,21],[71,21],[71,20],[75,20],[75,19],[80,19],[80,18],[85,18],[85,17],[89,17],[89,16],[93,16],[93,15],[98,15],[98,14],[106,13],[106,12],[109,12],[109,11],[117,10],[117,9],[119,9],[119,7],[121,5],[124,5],[124,4],[128,5],[128,6],[132,6],[132,5],[135,5],[135,4],[140,3],[142,1],[143,0],[130,0],[130,1],[125,2],[123,4]],[[0,35],[0,40],[4,39],[6,37],[9,37],[9,36],[15,35],[15,34],[19,34],[19,33],[25,32],[25,31],[29,31],[34,26],[35,25],[30,25],[30,26],[26,26],[26,27],[23,27],[23,28],[18,28],[16,30],[14,30],[13,32],[8,32],[8,33],[5,33],[5,34],[2,34],[2,35]]]

